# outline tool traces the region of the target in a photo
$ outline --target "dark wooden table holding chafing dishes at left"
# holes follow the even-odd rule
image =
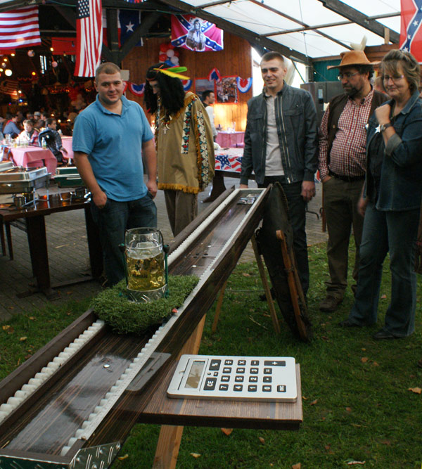
[[[25,219],[28,245],[30,247],[30,256],[32,272],[37,279],[37,288],[18,296],[24,297],[41,291],[49,298],[56,297],[57,294],[52,290],[49,269],[49,253],[47,249],[46,224],[45,217],[51,213],[67,212],[68,210],[85,211],[85,223],[87,225],[87,238],[89,261],[91,264],[91,277],[77,278],[65,282],[63,285],[72,285],[82,281],[91,280],[101,276],[103,269],[101,246],[98,242],[98,231],[91,217],[89,202],[86,200],[71,200],[70,193],[41,196],[37,203],[25,208],[15,208],[11,204],[0,204],[0,229],[3,231],[3,224],[13,220]]]

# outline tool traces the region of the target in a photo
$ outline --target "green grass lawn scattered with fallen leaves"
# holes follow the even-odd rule
[[[353,255],[353,252],[351,252]],[[304,421],[298,432],[184,429],[179,468],[421,468],[422,358],[421,288],[416,333],[410,338],[376,342],[390,295],[384,266],[380,317],[372,328],[343,329],[337,323],[352,307],[352,293],[335,314],[321,313],[328,266],[325,245],[309,250],[309,316],[314,338],[299,342],[281,323],[276,335],[255,263],[240,264],[229,279],[217,333],[211,333],[214,309],[207,314],[202,354],[294,356],[302,375]],[[419,287],[421,287],[419,281]],[[49,307],[0,326],[0,378],[87,309],[87,304]],[[5,326],[9,326],[5,328]],[[26,337],[26,340],[20,340]],[[411,391],[413,389],[414,391]],[[158,425],[136,425],[114,469],[151,467]],[[195,454],[197,457],[192,456]],[[198,456],[200,455],[200,456]],[[297,466],[299,467],[299,466]]]

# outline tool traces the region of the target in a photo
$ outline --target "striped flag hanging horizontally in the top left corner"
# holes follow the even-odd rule
[[[15,49],[38,44],[41,44],[41,39],[37,6],[25,6],[0,13],[0,49]]]

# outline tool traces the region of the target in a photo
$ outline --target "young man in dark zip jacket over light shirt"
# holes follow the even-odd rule
[[[293,228],[293,249],[306,295],[309,266],[305,232],[306,204],[315,195],[318,165],[318,131],[312,96],[285,81],[287,68],[278,52],[261,58],[262,94],[248,102],[241,188],[255,172],[258,187],[279,182],[288,201]]]

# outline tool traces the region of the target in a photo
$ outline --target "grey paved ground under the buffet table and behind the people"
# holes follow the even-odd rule
[[[225,179],[226,187],[238,186],[238,179]],[[316,197],[309,203],[308,209],[319,213],[321,207],[321,185],[317,185]],[[52,188],[51,192],[55,189]],[[56,189],[57,191],[57,189]],[[199,200],[207,197],[207,192],[199,196]],[[1,196],[4,202],[6,196]],[[165,211],[164,195],[158,191],[155,198],[158,206],[158,227],[166,243],[172,240],[170,225]],[[199,210],[203,210],[207,204],[199,203]],[[77,278],[86,274],[89,268],[87,248],[87,233],[85,231],[84,211],[72,210],[70,212],[51,214],[46,217],[46,231],[49,248],[49,265],[51,283],[61,283],[69,278]],[[24,231],[11,227],[13,239],[14,259],[11,261],[6,256],[0,255],[0,321],[6,321],[12,314],[30,313],[34,309],[45,307],[49,300],[41,293],[18,298],[17,294],[27,290],[33,281],[30,254],[27,237]],[[326,241],[326,233],[321,231],[321,220],[315,214],[307,214],[307,239],[308,244],[322,243]],[[1,253],[1,251],[0,251]],[[252,262],[255,256],[249,244],[243,252],[240,262]],[[101,285],[96,281],[87,281],[71,285],[58,290],[60,296],[53,300],[55,304],[69,299],[81,300],[90,297],[101,290]]]

